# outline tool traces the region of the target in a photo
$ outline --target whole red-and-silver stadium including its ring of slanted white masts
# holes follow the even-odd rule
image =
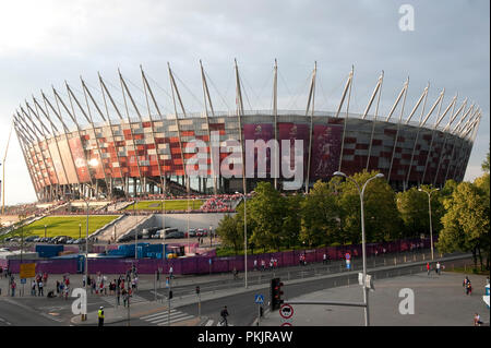
[[[100,75],[98,100],[94,88],[88,88],[83,80],[83,93],[75,94],[74,88],[65,84],[63,97],[55,88],[50,97],[44,93],[39,99],[33,97],[32,103],[26,101],[15,111],[13,123],[38,200],[132,196],[168,191],[184,194],[190,190],[193,193],[249,192],[259,180],[271,180],[278,189],[283,188],[282,175],[278,179],[271,178],[271,164],[266,178],[227,179],[213,170],[213,156],[206,156],[209,165],[206,176],[194,178],[187,185],[183,164],[196,158],[199,152],[190,151],[187,144],[200,140],[209,145],[213,132],[225,146],[227,141],[237,140],[242,148],[247,140],[276,140],[279,144],[302,140],[303,190],[319,179],[328,180],[337,170],[347,175],[363,169],[379,170],[396,190],[421,183],[441,187],[447,179],[463,180],[481,118],[481,110],[467,105],[467,99],[457,103],[454,97],[444,105],[442,91],[435,100],[429,100],[428,86],[410,108],[406,105],[406,81],[391,111],[378,115],[382,74],[364,111],[354,113],[349,110],[351,70],[336,110],[316,111],[315,67],[306,110],[278,110],[276,63],[274,71],[273,110],[267,111],[243,109],[237,63],[237,109],[233,112],[213,109],[203,67],[205,110],[200,113],[185,111],[170,67],[176,111],[172,115],[160,112],[143,70],[147,110],[137,107],[121,73],[123,106],[115,101]],[[136,117],[130,117],[130,108]],[[429,124],[432,116],[435,121]],[[241,152],[243,160],[246,155]],[[209,147],[205,153],[211,153]],[[230,153],[231,149],[219,153],[219,163]]]

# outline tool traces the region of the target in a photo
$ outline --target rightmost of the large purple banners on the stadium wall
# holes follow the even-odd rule
[[[342,136],[342,125],[314,125],[310,179],[332,177],[338,169]]]

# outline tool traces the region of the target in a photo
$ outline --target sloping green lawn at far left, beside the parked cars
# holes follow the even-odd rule
[[[119,215],[97,215],[97,216],[88,216],[88,235],[96,231],[98,228],[112,221],[119,217]],[[33,224],[24,227],[24,238],[27,236],[39,236],[45,237],[45,225],[46,228],[46,237],[56,237],[56,236],[69,236],[72,238],[79,238],[79,224],[82,225],[82,238],[85,238],[85,229],[86,229],[86,215],[76,215],[76,216],[48,216],[44,217]],[[12,233],[20,233],[21,230],[14,230],[11,233],[1,236],[1,239],[12,237]]]

